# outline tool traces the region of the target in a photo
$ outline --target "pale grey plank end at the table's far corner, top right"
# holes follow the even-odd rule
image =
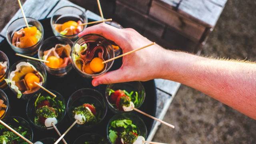
[[[214,27],[218,21],[223,7],[208,0],[182,0],[178,7],[178,12],[187,17],[194,17],[210,26]]]

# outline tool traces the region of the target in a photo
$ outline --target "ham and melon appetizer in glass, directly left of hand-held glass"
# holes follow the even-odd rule
[[[46,39],[38,50],[38,58],[48,62],[41,62],[50,74],[62,77],[72,69],[71,47],[73,42],[61,36]]]

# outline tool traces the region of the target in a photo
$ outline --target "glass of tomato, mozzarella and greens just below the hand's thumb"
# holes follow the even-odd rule
[[[108,107],[114,113],[128,112],[142,105],[145,90],[138,81],[109,84],[106,88],[106,98]]]

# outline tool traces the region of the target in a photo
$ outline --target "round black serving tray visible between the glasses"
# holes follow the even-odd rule
[[[44,27],[44,40],[46,40],[47,38],[49,38],[51,36],[54,36],[54,34],[52,32],[52,28],[50,26],[50,18],[40,20],[40,22],[42,23],[42,25]],[[6,39],[1,42],[0,50],[8,56],[10,66],[12,66],[12,64],[14,64],[15,62],[24,59],[23,57],[15,55],[15,52],[12,50],[12,48],[10,47],[10,45],[8,44]],[[112,68],[110,69],[110,71],[117,70],[121,66],[122,66],[122,58],[118,58],[114,61],[114,64],[113,64]],[[139,109],[142,110],[143,112],[146,112],[147,114],[155,116],[155,114],[156,114],[155,82],[154,82],[154,80],[149,80],[147,82],[142,82],[142,84],[145,88],[146,98],[144,100],[144,103],[142,104],[142,106]],[[77,72],[75,72],[74,69],[72,69],[71,72],[63,78],[56,78],[47,73],[46,88],[48,90],[55,90],[55,91],[59,92],[65,98],[66,104],[67,104],[68,98],[71,96],[71,94],[81,88],[92,88],[92,89],[98,90],[105,97],[106,86],[107,86],[106,84],[102,84],[102,85],[96,86],[96,87],[92,86],[92,79],[88,79],[88,78],[84,78],[84,77],[80,76]],[[28,100],[18,99],[17,96],[12,92],[12,90],[10,90],[10,88],[7,88],[6,90],[4,90],[4,92],[8,96],[8,99],[10,102],[10,106],[11,106],[10,116],[20,116],[28,121],[28,118],[26,116],[26,104],[27,104]],[[147,116],[144,116],[138,112],[134,112],[134,113],[137,114],[138,116],[140,116],[142,118],[142,120],[144,120],[146,127],[147,127],[148,134],[149,134],[154,120]],[[108,124],[108,121],[110,120],[110,118],[112,118],[112,116],[114,116],[114,113],[108,109],[106,117],[98,125],[97,128],[90,129],[90,130],[81,130],[74,126],[66,134],[66,136],[64,136],[64,139],[66,140],[67,143],[73,144],[73,142],[76,140],[76,138],[78,138],[82,134],[91,133],[91,132],[100,134],[101,136],[106,138],[107,124]],[[72,124],[72,122],[68,118],[68,114],[66,114],[64,120],[62,122],[60,122],[60,124],[58,125],[58,130],[60,131],[61,134],[63,134],[71,124]],[[59,138],[60,137],[60,136],[58,136],[57,132],[54,129],[47,130],[47,131],[41,131],[41,130],[38,130],[37,128],[35,128],[32,124],[30,124],[30,125],[32,126],[33,133],[34,133],[33,142],[36,142],[43,138]]]

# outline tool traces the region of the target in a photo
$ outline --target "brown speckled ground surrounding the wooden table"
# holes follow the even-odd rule
[[[11,1],[11,2],[10,2]],[[22,3],[25,0],[21,0]],[[16,0],[0,0],[0,31],[18,10]],[[256,1],[229,0],[203,47],[206,56],[256,61]],[[172,144],[254,144],[256,121],[182,85],[154,141]]]

